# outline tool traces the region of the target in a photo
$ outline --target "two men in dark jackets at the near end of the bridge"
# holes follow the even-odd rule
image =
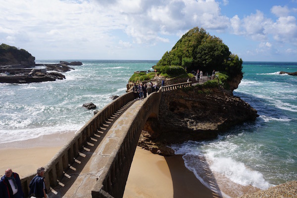
[[[48,198],[44,174],[45,168],[37,169],[37,175],[29,184],[31,198]],[[0,198],[25,198],[20,177],[12,172],[11,168],[6,169],[5,175],[1,177]]]

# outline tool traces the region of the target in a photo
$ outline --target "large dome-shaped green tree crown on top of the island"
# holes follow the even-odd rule
[[[180,73],[181,68],[188,73],[197,69],[211,73],[215,69],[232,78],[243,74],[242,63],[242,59],[231,54],[220,38],[195,27],[184,34],[170,52],[165,52],[154,69],[170,76]]]

